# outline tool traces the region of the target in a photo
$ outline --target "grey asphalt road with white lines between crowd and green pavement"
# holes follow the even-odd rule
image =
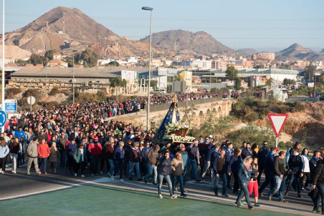
[[[25,168],[25,167],[23,167]],[[118,178],[114,181],[107,178],[107,174],[98,175],[96,177],[89,176],[89,172],[86,174],[86,178],[74,177],[68,174],[67,169],[59,168],[58,174],[47,174],[36,176],[33,172],[31,176],[25,175],[25,169],[17,169],[17,174],[12,174],[11,169],[7,168],[4,175],[0,176],[0,201],[6,199],[13,199],[17,197],[29,196],[38,193],[45,193],[55,190],[66,189],[75,186],[82,186],[85,184],[104,184],[112,187],[120,187],[129,190],[145,190],[156,193],[156,186],[150,183],[128,181],[122,183]],[[136,178],[134,178],[135,180]],[[215,197],[214,191],[209,187],[211,179],[208,177],[206,182],[200,182],[195,184],[194,181],[189,180],[186,184],[187,194],[189,198],[194,199],[207,199],[220,203],[234,204],[236,196],[228,190],[228,198]],[[220,183],[221,184],[221,183]],[[167,192],[167,187],[164,187],[164,191]],[[263,194],[267,194],[266,189]],[[168,193],[167,193],[168,194]],[[306,192],[302,192],[303,198],[298,198],[296,192],[291,192],[288,197],[288,203],[278,202],[278,198],[273,198],[272,201],[268,201],[266,196],[260,197],[259,202],[262,203],[262,208],[275,210],[280,212],[289,212],[302,215],[314,215],[312,210],[312,204],[310,198]],[[251,196],[252,197],[252,196]],[[251,198],[254,201],[253,198]]]

